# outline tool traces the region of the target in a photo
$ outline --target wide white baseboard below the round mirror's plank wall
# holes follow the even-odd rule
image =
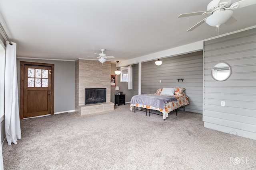
[[[226,127],[226,126],[217,125],[217,124],[208,123],[208,122],[204,122],[204,127],[209,128],[209,129],[214,129],[217,131],[221,131],[221,132],[225,132],[225,133],[229,133],[232,135],[237,135],[240,137],[246,137],[246,138],[256,140],[256,133],[254,133],[254,132],[244,131],[241,129]]]

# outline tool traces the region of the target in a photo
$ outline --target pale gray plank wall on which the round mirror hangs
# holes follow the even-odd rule
[[[220,61],[232,70],[222,82],[211,76]],[[204,126],[256,139],[256,29],[205,42]]]

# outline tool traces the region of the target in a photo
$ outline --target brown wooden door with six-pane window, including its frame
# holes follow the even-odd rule
[[[20,119],[53,114],[53,64],[20,62]]]

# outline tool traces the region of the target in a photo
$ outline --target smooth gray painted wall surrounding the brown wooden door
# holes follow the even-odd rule
[[[54,113],[75,109],[75,62],[17,59],[18,91],[20,91],[20,61],[54,64]]]

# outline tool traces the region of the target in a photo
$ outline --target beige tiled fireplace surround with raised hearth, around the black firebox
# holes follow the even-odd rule
[[[102,65],[99,61],[78,59],[75,72],[75,110],[78,115],[114,110],[114,103],[110,102],[110,61]],[[85,88],[106,88],[106,103],[84,105]]]

